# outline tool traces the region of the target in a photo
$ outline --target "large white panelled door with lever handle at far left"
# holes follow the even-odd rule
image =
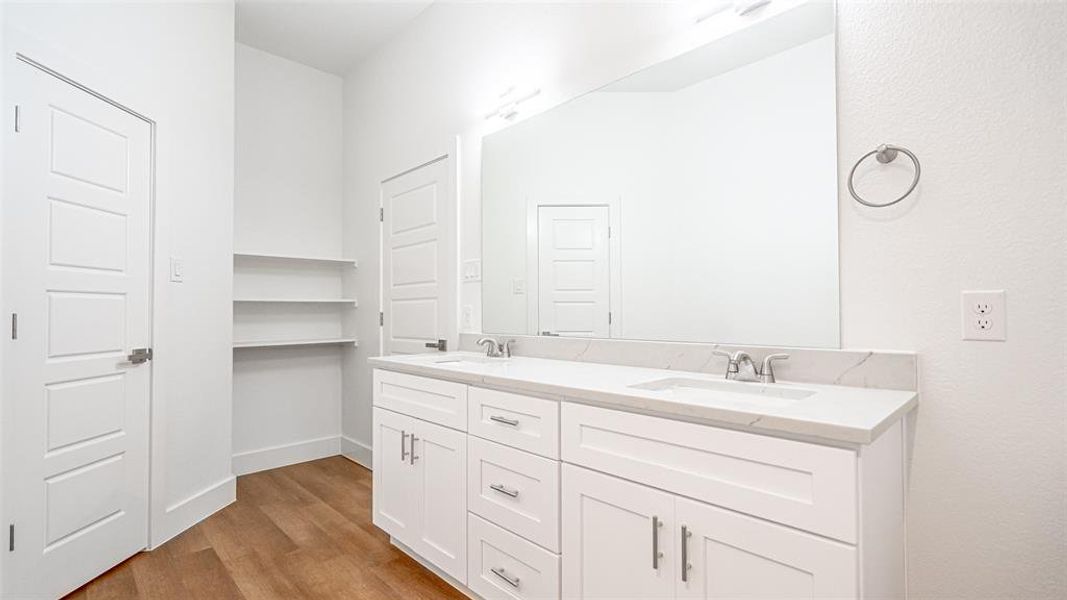
[[[4,593],[59,597],[147,543],[152,363],[127,354],[150,346],[150,126],[27,64],[10,75]]]

